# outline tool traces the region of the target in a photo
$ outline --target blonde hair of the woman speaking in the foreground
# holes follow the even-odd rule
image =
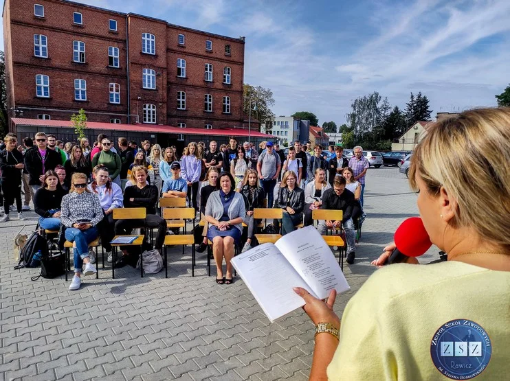
[[[409,182],[456,200],[454,227],[510,250],[510,108],[479,108],[429,124],[412,153]]]

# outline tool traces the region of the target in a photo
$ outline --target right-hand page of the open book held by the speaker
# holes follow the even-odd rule
[[[333,288],[338,293],[350,288],[335,255],[315,227],[284,235],[275,246],[319,299],[326,299]]]

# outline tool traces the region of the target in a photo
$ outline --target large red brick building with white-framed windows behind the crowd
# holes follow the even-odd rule
[[[10,118],[247,128],[243,37],[63,0],[5,0],[3,31]]]

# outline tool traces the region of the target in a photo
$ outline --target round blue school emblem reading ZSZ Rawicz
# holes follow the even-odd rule
[[[469,380],[482,373],[491,360],[489,334],[474,321],[456,319],[436,331],[430,343],[435,367],[452,380]]]

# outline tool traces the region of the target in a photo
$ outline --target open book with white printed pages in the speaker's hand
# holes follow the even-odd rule
[[[311,226],[236,255],[232,265],[271,323],[304,305],[293,287],[319,299],[333,288],[338,293],[350,288],[331,249]]]

